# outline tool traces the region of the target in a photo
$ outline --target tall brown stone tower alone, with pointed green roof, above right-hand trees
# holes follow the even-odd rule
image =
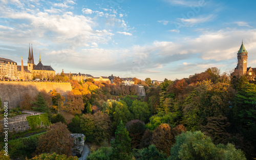
[[[238,74],[241,75],[245,75],[247,72],[247,51],[245,50],[243,41],[242,41],[242,45],[240,47],[240,50],[238,51],[238,65],[237,65],[237,71]]]

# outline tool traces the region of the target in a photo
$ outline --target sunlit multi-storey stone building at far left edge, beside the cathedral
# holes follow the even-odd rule
[[[0,57],[0,79],[17,79],[17,63]]]

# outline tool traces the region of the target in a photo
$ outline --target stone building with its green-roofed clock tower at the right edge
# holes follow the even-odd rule
[[[242,75],[252,75],[255,73],[256,68],[247,67],[247,57],[248,52],[245,50],[243,41],[238,51],[238,64],[237,67],[234,68],[234,75],[242,76]]]

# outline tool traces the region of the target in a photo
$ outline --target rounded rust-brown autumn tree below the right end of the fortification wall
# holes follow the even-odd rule
[[[84,109],[81,95],[74,95],[72,92],[67,93],[66,109],[73,115],[79,115]]]

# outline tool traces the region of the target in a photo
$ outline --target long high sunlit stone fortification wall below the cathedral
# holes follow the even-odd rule
[[[28,93],[34,97],[41,90],[50,93],[53,89],[57,90],[62,96],[72,90],[70,82],[13,82],[0,81],[0,98],[3,102],[8,102],[8,108],[15,108],[19,102],[23,101],[23,95]]]

